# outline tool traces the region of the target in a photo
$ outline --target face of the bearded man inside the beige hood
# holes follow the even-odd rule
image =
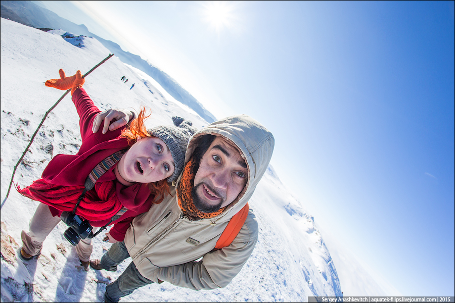
[[[194,177],[193,203],[204,213],[229,205],[245,187],[248,170],[237,147],[216,136]]]

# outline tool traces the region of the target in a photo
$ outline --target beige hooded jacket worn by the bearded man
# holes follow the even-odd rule
[[[240,272],[256,245],[258,225],[250,210],[232,244],[212,251],[230,219],[251,198],[268,167],[275,139],[249,116],[228,117],[191,138],[185,163],[193,154],[195,138],[205,134],[223,136],[237,145],[248,166],[247,184],[228,208],[212,219],[193,221],[184,216],[173,188],[172,196],[133,220],[126,232],[125,245],[139,272],[154,282],[167,281],[195,290],[225,287]],[[202,260],[195,261],[201,257]]]

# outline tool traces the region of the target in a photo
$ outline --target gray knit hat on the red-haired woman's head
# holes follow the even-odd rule
[[[174,122],[175,126],[160,125],[147,130],[152,136],[163,140],[171,152],[175,170],[174,173],[167,178],[167,182],[177,180],[177,177],[180,175],[181,171],[183,171],[188,142],[190,137],[198,131],[190,120],[172,117],[172,122]]]

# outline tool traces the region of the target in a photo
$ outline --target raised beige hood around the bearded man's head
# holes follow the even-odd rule
[[[222,136],[237,146],[248,168],[248,180],[244,189],[226,210],[211,221],[230,220],[247,203],[256,185],[265,173],[275,146],[275,138],[262,124],[247,115],[227,117],[209,124],[193,135],[188,143],[185,164],[188,163],[196,148],[195,141],[203,135]],[[177,183],[180,181],[177,179]]]

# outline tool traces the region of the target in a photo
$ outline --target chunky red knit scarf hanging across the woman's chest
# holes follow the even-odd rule
[[[16,188],[23,196],[63,212],[72,212],[84,185],[54,185],[38,179],[23,189],[18,185]],[[104,181],[95,183],[95,188],[85,193],[76,214],[88,221],[101,221],[111,219],[121,209],[122,204],[117,198],[114,181]]]

